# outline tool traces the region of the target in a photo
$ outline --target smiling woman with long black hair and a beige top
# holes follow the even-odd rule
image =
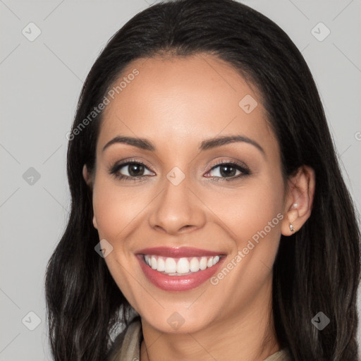
[[[54,360],[358,360],[353,202],[271,20],[232,0],[147,8],[94,63],[68,139]]]

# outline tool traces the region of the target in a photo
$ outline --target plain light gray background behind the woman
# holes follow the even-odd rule
[[[302,50],[360,210],[361,1],[243,2],[274,20]],[[106,41],[152,3],[0,0],[0,361],[50,360],[44,269],[70,204],[66,133],[82,82]],[[41,30],[32,42],[22,33],[35,35],[30,22]],[[319,22],[331,31],[323,41],[314,37],[326,35]]]

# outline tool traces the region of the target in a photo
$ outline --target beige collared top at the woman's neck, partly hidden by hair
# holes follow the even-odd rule
[[[140,361],[140,344],[142,343],[142,324],[137,318],[121,334],[116,336],[109,350],[106,361]],[[267,357],[264,361],[290,361],[286,348]]]

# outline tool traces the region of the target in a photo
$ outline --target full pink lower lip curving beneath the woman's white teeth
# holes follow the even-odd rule
[[[157,286],[162,290],[191,290],[192,288],[200,286],[216,273],[220,265],[224,262],[224,258],[226,257],[221,257],[219,262],[214,264],[214,266],[206,268],[203,271],[186,274],[185,276],[168,276],[166,274],[161,274],[145,264],[143,255],[137,255],[140,267],[142,267],[147,279],[149,279],[154,286]]]

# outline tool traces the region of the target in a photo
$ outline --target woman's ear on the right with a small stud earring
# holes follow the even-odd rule
[[[310,217],[315,184],[314,170],[310,166],[300,166],[295,175],[288,178],[284,218],[281,224],[283,235],[292,235],[299,231]]]

